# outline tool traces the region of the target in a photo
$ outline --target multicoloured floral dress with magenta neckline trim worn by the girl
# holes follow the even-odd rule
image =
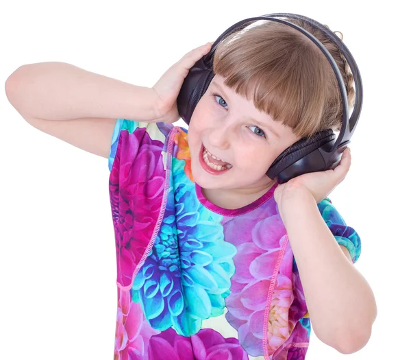
[[[187,130],[117,119],[109,157],[116,241],[115,360],[302,360],[310,318],[276,185],[235,210],[193,182]],[[360,238],[329,199],[356,262]]]

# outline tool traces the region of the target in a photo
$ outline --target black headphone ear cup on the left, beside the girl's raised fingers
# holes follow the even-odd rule
[[[198,60],[188,71],[184,79],[179,95],[177,96],[177,110],[179,116],[189,124],[192,112],[206,93],[214,72],[204,62],[204,57]]]

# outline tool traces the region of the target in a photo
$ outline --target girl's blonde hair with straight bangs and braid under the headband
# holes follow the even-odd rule
[[[347,60],[320,30],[286,20],[313,34],[331,53],[351,110],[355,91]],[[319,47],[289,25],[259,20],[229,34],[214,53],[213,70],[225,77],[226,86],[252,99],[258,110],[290,126],[299,137],[329,128],[340,130],[343,106],[336,75]]]

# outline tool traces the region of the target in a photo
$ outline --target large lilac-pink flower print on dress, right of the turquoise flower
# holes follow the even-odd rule
[[[232,293],[225,300],[228,310],[225,317],[238,330],[241,346],[254,357],[263,355],[264,311],[282,246],[283,240],[279,239],[286,235],[279,214],[271,214],[265,206],[260,206],[249,215],[233,217],[224,224],[225,237],[232,239],[237,248],[234,256],[236,273],[232,277]],[[271,236],[267,237],[267,233]],[[289,296],[287,279],[282,281],[286,286],[284,296]]]

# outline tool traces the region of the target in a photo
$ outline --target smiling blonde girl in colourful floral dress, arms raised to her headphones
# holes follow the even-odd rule
[[[352,108],[338,49],[288,21],[327,47]],[[355,352],[377,310],[353,267],[360,238],[327,198],[349,171],[349,149],[334,170],[286,184],[266,176],[299,139],[339,130],[335,75],[303,34],[254,24],[219,44],[189,129],[173,126],[184,78],[209,51],[190,51],[152,88],[60,62],[24,65],[5,84],[31,125],[108,158],[114,359],[304,359],[311,326],[325,344]]]

